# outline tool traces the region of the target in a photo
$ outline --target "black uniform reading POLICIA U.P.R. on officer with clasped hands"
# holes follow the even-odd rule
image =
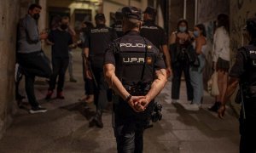
[[[147,57],[145,54],[147,51]],[[145,65],[144,65],[145,61]],[[165,69],[165,62],[160,56],[160,51],[141,37],[137,31],[128,31],[124,37],[115,40],[107,49],[105,64],[116,67],[116,75],[131,95],[139,95],[130,89],[142,82],[148,86],[143,88],[147,94],[151,83],[154,81],[154,71]],[[141,80],[143,66],[145,67],[143,80]],[[149,83],[148,83],[149,82]],[[149,88],[148,88],[149,87]],[[136,113],[121,98],[116,98],[114,106],[114,133],[119,152],[143,152],[143,131],[147,126],[148,117],[153,110],[154,101],[150,102],[147,110]]]

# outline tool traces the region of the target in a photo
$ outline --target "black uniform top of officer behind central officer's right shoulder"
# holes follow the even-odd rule
[[[155,47],[167,45],[166,32],[160,26],[154,24],[154,20],[145,20],[141,27],[141,36],[146,37]]]

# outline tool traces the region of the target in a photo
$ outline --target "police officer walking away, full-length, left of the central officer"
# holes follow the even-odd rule
[[[96,14],[96,27],[91,28],[85,40],[84,54],[87,59],[86,76],[95,82],[94,102],[96,104],[96,116],[90,122],[97,127],[103,127],[102,111],[108,105],[108,84],[104,81],[103,60],[104,53],[110,42],[117,38],[115,31],[105,25],[104,14]]]

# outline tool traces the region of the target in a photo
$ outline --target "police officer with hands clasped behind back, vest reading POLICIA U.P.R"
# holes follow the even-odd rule
[[[117,150],[140,153],[154,98],[166,84],[166,66],[159,49],[139,34],[140,9],[125,7],[122,13],[125,36],[106,50],[104,74],[116,95],[113,126]]]

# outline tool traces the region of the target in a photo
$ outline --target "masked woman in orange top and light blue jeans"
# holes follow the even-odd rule
[[[191,85],[193,87],[193,100],[192,104],[188,105],[187,110],[189,111],[199,111],[201,107],[201,102],[203,98],[203,68],[206,63],[204,52],[207,47],[207,39],[206,39],[206,28],[204,25],[199,24],[194,28],[194,37],[195,41],[192,43],[195,48],[195,52],[197,55],[197,59],[195,63],[190,66],[190,79]]]

